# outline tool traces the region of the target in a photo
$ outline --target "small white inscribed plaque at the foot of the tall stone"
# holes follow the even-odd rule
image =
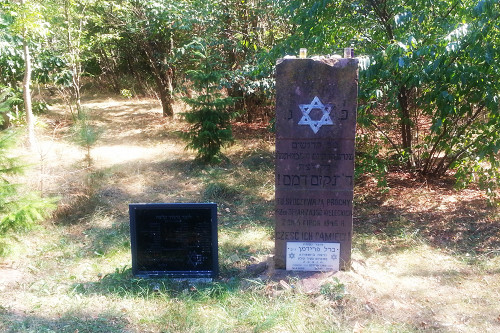
[[[288,271],[339,271],[340,243],[287,242]]]

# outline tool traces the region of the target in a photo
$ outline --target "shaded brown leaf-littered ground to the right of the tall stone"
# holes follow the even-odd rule
[[[387,240],[386,252],[404,250],[411,246],[405,240],[420,239],[459,255],[499,254],[498,212],[480,191],[456,191],[449,180],[427,182],[409,174],[390,174],[388,181],[387,193],[376,188],[358,193],[356,235]]]

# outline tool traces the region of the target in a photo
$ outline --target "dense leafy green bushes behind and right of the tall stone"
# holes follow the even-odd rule
[[[494,192],[500,141],[498,1],[283,1],[297,50],[354,46],[359,124],[381,133],[391,164]],[[376,143],[378,144],[378,143]],[[493,161],[493,163],[492,163]],[[493,187],[492,187],[493,186]]]

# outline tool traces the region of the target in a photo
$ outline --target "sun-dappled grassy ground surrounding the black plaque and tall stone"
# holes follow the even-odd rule
[[[43,168],[23,182],[43,184],[61,203],[52,220],[5,240],[0,331],[500,330],[500,222],[479,191],[394,173],[390,189],[380,193],[375,180],[361,179],[351,270],[252,275],[247,267],[266,261],[274,248],[269,135],[239,128],[226,151],[230,162],[204,168],[172,134],[182,121],[163,119],[153,102],[104,98],[86,107],[103,129],[92,169],[68,139],[69,121],[39,133]],[[64,124],[65,117],[56,106],[42,120]],[[220,279],[190,284],[133,277],[128,204],[202,201],[219,207]],[[8,280],[8,272],[18,274]]]

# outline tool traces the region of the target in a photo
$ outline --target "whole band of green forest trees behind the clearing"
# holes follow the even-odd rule
[[[30,84],[62,96],[77,116],[86,89],[155,96],[165,117],[184,97],[193,108],[190,146],[210,162],[231,141],[230,119],[272,120],[278,58],[301,47],[310,55],[354,47],[360,57],[357,170],[374,172],[381,182],[389,167],[436,177],[453,171],[457,184],[475,181],[495,196],[498,1],[0,5],[4,127],[24,113],[33,132],[31,114],[47,102],[40,96],[32,105]],[[207,128],[207,119],[214,126]]]

